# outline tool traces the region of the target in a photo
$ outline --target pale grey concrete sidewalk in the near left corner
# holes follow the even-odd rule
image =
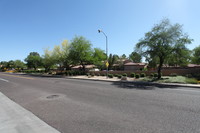
[[[60,133],[0,92],[0,133]]]

